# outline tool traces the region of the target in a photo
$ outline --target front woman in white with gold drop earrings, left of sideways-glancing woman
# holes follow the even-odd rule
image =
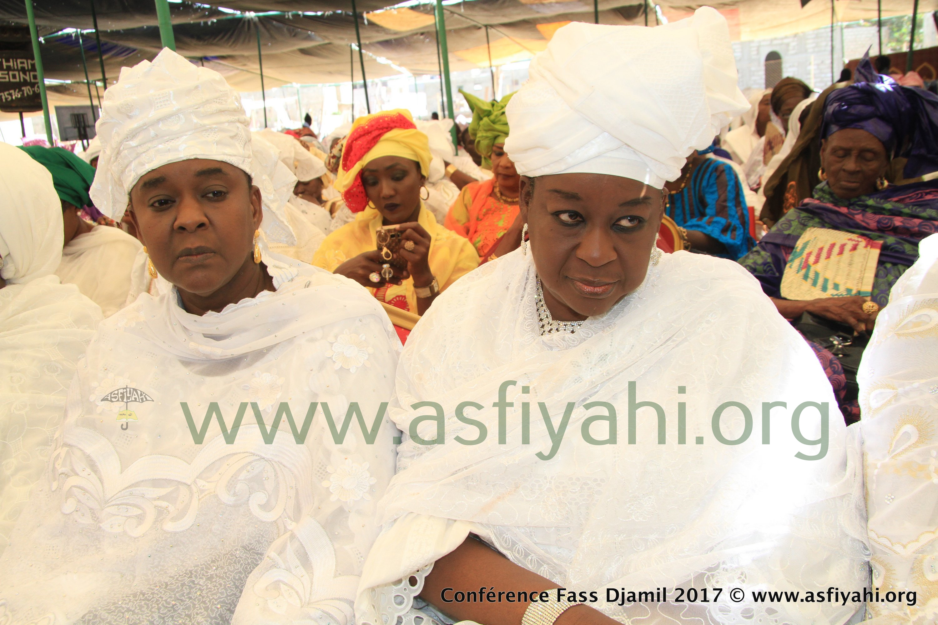
[[[0,560],[0,622],[352,620],[399,343],[360,287],[258,245],[291,234],[247,122],[169,50],[105,93],[92,197],[129,207],[174,287],[89,345]]]

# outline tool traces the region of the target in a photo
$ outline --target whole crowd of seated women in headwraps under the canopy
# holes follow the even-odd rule
[[[0,144],[0,623],[933,622],[938,97],[729,41],[568,23],[459,147],[165,49]]]

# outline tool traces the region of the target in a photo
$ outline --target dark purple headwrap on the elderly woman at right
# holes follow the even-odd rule
[[[908,158],[906,178],[938,171],[938,97],[877,74],[866,55],[855,80],[827,97],[821,136],[866,130],[883,142],[887,156]]]

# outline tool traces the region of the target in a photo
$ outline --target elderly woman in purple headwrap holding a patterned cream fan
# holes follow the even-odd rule
[[[918,258],[918,242],[938,227],[938,182],[885,179],[896,156],[908,157],[907,177],[938,169],[938,97],[876,75],[869,60],[857,67],[864,79],[827,97],[813,197],[740,260],[814,339],[848,420],[858,417],[856,365],[877,311]]]

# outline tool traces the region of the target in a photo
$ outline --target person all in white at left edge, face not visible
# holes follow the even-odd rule
[[[0,553],[62,423],[101,309],[54,274],[62,208],[42,165],[0,143]]]

